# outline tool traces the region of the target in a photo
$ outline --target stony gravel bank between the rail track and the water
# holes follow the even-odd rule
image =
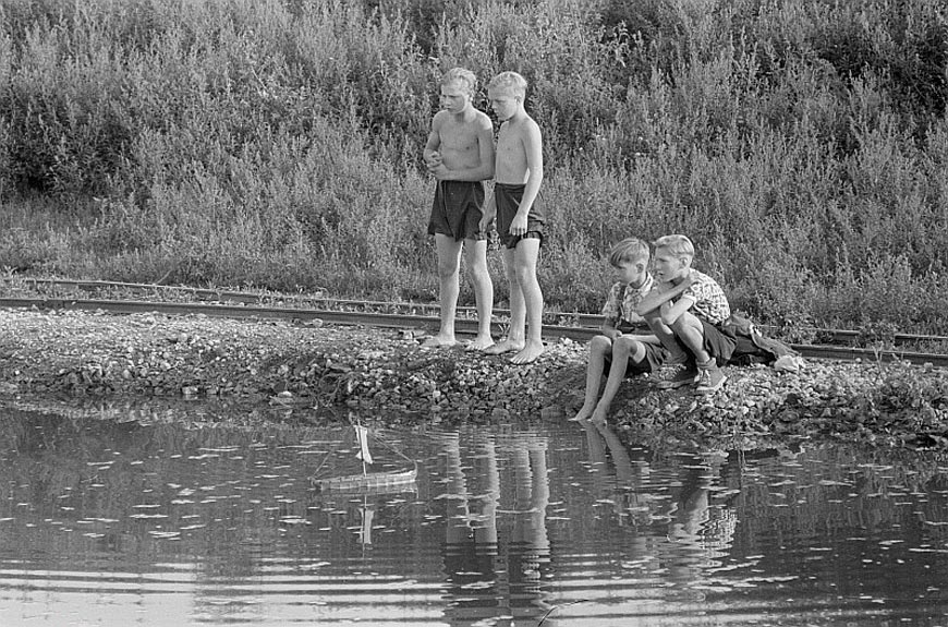
[[[0,394],[245,399],[289,410],[354,408],[391,423],[567,420],[582,402],[585,346],[549,342],[530,366],[425,349],[411,331],[161,314],[0,310]],[[809,360],[799,372],[726,369],[710,397],[629,381],[610,418],[634,437],[844,436],[948,446],[948,372]],[[943,437],[944,435],[944,437]]]

